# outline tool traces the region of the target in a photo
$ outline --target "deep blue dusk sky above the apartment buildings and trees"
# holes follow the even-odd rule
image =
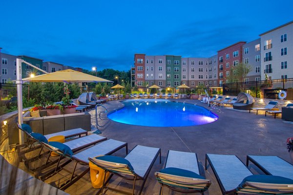
[[[293,20],[292,0],[2,0],[1,52],[91,70],[210,57]]]

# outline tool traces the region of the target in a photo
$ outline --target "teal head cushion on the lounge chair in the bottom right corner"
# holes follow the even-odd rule
[[[257,182],[257,183],[293,184],[292,179],[282,177],[282,176],[267,176],[267,175],[247,176],[243,179],[241,184],[244,184],[247,181]]]

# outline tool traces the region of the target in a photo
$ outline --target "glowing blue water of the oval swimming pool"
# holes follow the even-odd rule
[[[163,99],[123,101],[125,107],[108,117],[114,121],[151,127],[182,127],[207,124],[218,117],[209,110],[193,104]]]

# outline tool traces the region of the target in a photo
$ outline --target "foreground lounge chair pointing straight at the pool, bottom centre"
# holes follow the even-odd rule
[[[164,169],[155,176],[161,184],[160,195],[163,195],[164,186],[181,193],[203,193],[210,185],[208,179],[199,175],[195,153],[169,150]]]

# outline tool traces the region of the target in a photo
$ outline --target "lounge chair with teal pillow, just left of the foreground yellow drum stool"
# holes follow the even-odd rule
[[[50,142],[49,144],[44,143],[44,145],[50,151],[56,152],[57,154],[59,154],[60,159],[62,158],[62,156],[69,158],[68,161],[66,161],[65,163],[63,163],[61,165],[60,165],[60,161],[58,161],[58,163],[56,163],[56,167],[54,168],[54,170],[48,171],[39,177],[41,180],[46,180],[46,179],[50,178],[51,176],[54,176],[57,173],[59,173],[59,175],[63,176],[60,173],[61,170],[64,170],[64,171],[70,173],[70,178],[63,176],[67,179],[67,181],[65,183],[63,183],[61,186],[59,186],[59,188],[61,190],[65,190],[66,188],[71,186],[74,182],[79,180],[81,177],[83,177],[89,171],[88,157],[101,156],[101,155],[111,155],[114,152],[116,152],[124,147],[126,147],[126,154],[128,152],[127,143],[122,142],[122,141],[117,141],[114,139],[105,140],[105,141],[98,143],[90,148],[87,148],[77,154],[73,154],[73,151],[71,151],[68,146],[66,146],[62,143],[57,142],[57,144],[56,144],[56,142],[54,142],[52,144],[52,142]],[[70,171],[70,170],[65,169],[64,167],[66,165],[68,165],[71,161],[74,162],[74,167],[73,168],[71,167],[71,171]],[[84,170],[84,172],[81,173],[80,175],[77,175],[75,173],[77,164],[87,166],[87,168]]]

